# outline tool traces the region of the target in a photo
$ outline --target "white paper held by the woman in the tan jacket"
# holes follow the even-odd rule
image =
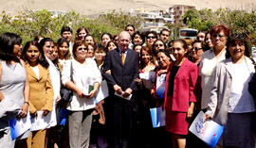
[[[42,110],[37,111],[37,117],[31,118],[31,123],[31,131],[49,128],[51,125],[51,112],[44,116]]]

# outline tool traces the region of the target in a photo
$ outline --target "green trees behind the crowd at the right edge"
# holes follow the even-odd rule
[[[210,30],[213,25],[229,25],[232,33],[256,34],[256,13],[246,10],[230,10],[219,8],[216,11],[210,9],[189,9],[183,15],[183,23],[188,27],[198,30]]]

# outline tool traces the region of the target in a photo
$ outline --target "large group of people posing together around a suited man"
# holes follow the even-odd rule
[[[196,40],[170,35],[127,25],[119,35],[102,33],[100,43],[84,26],[75,37],[64,26],[58,41],[39,35],[22,47],[20,36],[2,34],[0,147],[193,147],[189,126],[199,111],[224,126],[219,147],[255,147],[256,67],[247,37],[227,25],[198,31]],[[165,126],[153,127],[154,107],[165,110]],[[28,115],[51,122],[11,140],[9,120]]]

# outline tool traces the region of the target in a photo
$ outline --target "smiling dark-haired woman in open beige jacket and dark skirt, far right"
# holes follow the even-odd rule
[[[217,64],[207,107],[207,119],[224,125],[219,143],[224,147],[255,147],[254,100],[248,92],[248,81],[254,74],[246,38],[232,35],[228,41],[227,59]]]

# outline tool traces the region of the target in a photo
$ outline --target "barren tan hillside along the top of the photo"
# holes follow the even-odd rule
[[[256,9],[256,0],[1,0],[0,10],[17,14],[24,8],[70,11],[95,14],[110,9],[166,9],[172,5],[192,5],[196,8]]]

